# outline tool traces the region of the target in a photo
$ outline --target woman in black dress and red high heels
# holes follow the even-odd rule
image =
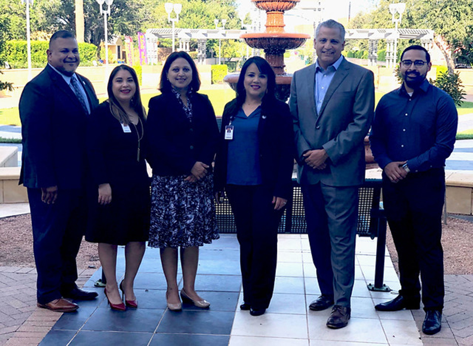
[[[149,229],[149,177],[144,161],[145,111],[134,69],[112,70],[108,100],[91,114],[88,155],[93,180],[86,240],[99,243],[105,295],[114,310],[136,308],[133,283]],[[125,245],[125,277],[116,278],[117,245]],[[122,299],[125,299],[123,303]]]

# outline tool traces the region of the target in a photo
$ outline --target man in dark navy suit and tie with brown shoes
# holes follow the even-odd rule
[[[28,188],[37,277],[37,306],[78,309],[97,297],[75,284],[76,256],[86,224],[86,119],[99,104],[87,78],[75,73],[80,57],[70,32],[52,35],[48,65],[20,98],[22,167]]]

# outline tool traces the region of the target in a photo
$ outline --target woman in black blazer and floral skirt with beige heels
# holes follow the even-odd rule
[[[169,310],[182,308],[177,288],[180,247],[184,302],[209,303],[195,291],[199,246],[218,239],[212,161],[218,127],[212,104],[200,88],[196,65],[186,52],[169,55],[161,73],[161,95],[149,101],[146,132],[151,183],[148,245],[161,249]]]

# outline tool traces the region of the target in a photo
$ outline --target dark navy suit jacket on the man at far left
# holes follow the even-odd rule
[[[76,75],[92,111],[99,104],[94,87],[87,78]],[[49,65],[25,86],[20,119],[20,184],[30,188],[84,187],[87,114],[64,78]]]

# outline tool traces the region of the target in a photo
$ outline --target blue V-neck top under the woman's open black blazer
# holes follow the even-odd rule
[[[242,108],[236,113],[231,123],[234,126],[233,139],[228,143],[227,184],[262,183],[258,140],[260,118],[261,106],[248,117]]]

